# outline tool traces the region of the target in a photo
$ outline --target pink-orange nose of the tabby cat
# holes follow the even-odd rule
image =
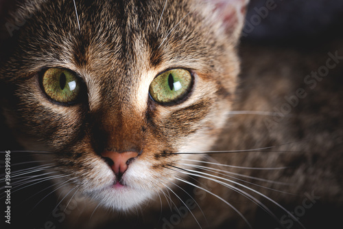
[[[110,158],[110,160],[112,160],[113,163],[108,162],[108,164],[115,172],[115,174],[123,174],[128,169],[128,164],[130,164],[134,157],[138,156],[138,153],[134,151],[126,151],[123,153],[104,151],[104,153],[102,153],[102,156],[108,157]]]

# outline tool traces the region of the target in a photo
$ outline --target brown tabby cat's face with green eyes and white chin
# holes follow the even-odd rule
[[[180,153],[208,151],[233,101],[244,3],[219,2],[78,1],[80,28],[73,1],[19,10],[32,16],[0,69],[17,140],[104,207],[172,186],[201,157]]]

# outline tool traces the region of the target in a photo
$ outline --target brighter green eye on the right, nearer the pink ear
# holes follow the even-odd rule
[[[185,98],[191,84],[192,77],[187,70],[171,69],[152,80],[149,93],[156,102],[176,102]]]

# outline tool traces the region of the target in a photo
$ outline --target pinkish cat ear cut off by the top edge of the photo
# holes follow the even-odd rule
[[[224,30],[237,41],[243,29],[249,0],[203,0],[212,3]]]

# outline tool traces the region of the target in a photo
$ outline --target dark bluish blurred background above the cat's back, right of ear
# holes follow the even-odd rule
[[[242,39],[311,43],[342,34],[342,0],[251,0]]]

